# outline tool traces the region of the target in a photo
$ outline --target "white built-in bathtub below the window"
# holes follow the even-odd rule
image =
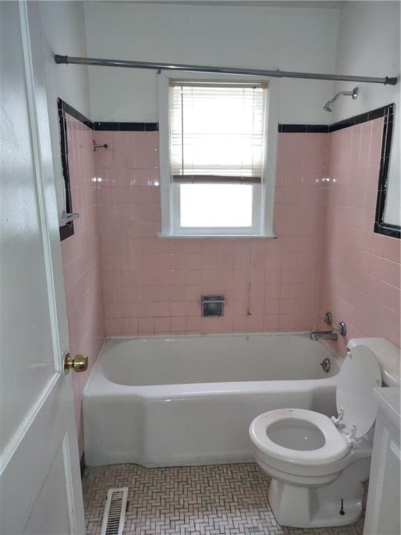
[[[248,427],[261,412],[335,414],[338,366],[307,334],[109,339],[84,391],[86,463],[251,460]]]

